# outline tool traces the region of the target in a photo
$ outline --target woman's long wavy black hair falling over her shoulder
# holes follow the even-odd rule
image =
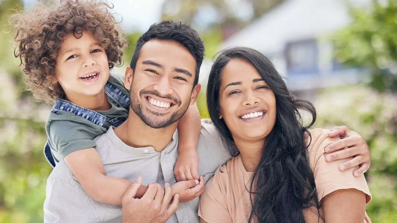
[[[239,152],[231,132],[225,121],[219,119],[221,73],[233,58],[243,58],[251,63],[276,96],[276,123],[266,137],[260,161],[252,174],[249,222],[305,222],[303,209],[311,207],[320,219],[316,185],[305,143],[305,133],[310,136],[308,128],[316,121],[316,110],[312,103],[292,96],[283,77],[266,56],[245,47],[228,48],[219,53],[207,86],[208,112],[214,126],[227,143],[230,154],[237,156]],[[310,124],[303,125],[298,109],[312,115]]]

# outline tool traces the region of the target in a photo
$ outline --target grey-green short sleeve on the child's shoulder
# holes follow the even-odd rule
[[[97,135],[96,129],[90,125],[68,119],[54,120],[49,125],[48,143],[64,158],[71,152],[95,147]]]

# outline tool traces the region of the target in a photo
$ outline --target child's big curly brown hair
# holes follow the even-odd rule
[[[122,65],[123,49],[127,44],[106,2],[98,0],[65,0],[59,6],[38,3],[32,11],[15,13],[10,25],[17,42],[15,58],[23,65],[22,73],[27,90],[37,101],[54,103],[64,97],[64,90],[56,81],[56,58],[64,37],[91,33],[106,49],[109,69]]]

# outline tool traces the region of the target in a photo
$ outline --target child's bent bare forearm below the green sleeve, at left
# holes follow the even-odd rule
[[[98,202],[121,205],[121,198],[132,182],[106,176],[102,160],[94,148],[71,152],[64,160],[91,198]],[[141,198],[146,190],[146,186],[140,186],[136,198]]]

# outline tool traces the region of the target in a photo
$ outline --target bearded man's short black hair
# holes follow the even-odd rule
[[[135,45],[134,55],[132,56],[130,64],[134,73],[143,44],[153,39],[172,40],[182,44],[190,51],[196,59],[196,76],[195,82],[193,83],[193,86],[196,86],[198,83],[200,66],[204,59],[204,43],[198,33],[189,25],[172,20],[163,20],[159,23],[152,24],[148,31],[139,37]]]

